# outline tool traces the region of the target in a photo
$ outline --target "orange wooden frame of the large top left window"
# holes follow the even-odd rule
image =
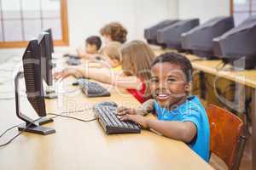
[[[68,20],[67,20],[67,0],[60,0],[61,3],[61,35],[62,40],[55,40],[55,46],[68,46]],[[26,48],[27,41],[0,42],[0,48]]]

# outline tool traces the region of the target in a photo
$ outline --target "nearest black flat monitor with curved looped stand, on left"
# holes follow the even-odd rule
[[[20,131],[44,135],[55,133],[53,128],[40,126],[48,122],[53,122],[53,120],[44,117],[46,116],[46,110],[41,72],[41,56],[37,40],[32,40],[28,43],[26,51],[23,54],[22,62],[24,72],[18,72],[15,77],[15,104],[16,115],[26,123],[21,124],[18,129]],[[39,119],[33,120],[20,112],[19,80],[21,77],[25,77],[26,97],[32,105],[33,110],[40,116]]]

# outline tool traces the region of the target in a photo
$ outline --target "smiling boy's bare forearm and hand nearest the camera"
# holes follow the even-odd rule
[[[181,140],[189,143],[194,139],[197,130],[193,122],[159,121],[140,115],[128,115],[120,117],[121,121],[133,121],[143,128],[152,128],[167,138]]]

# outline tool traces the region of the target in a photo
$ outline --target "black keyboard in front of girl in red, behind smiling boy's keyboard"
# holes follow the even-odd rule
[[[110,96],[108,89],[103,88],[97,82],[90,82],[86,78],[80,78],[78,80],[79,86],[82,88],[84,94],[88,97],[104,97]]]

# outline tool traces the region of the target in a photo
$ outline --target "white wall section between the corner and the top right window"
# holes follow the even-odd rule
[[[200,18],[201,23],[215,16],[230,15],[230,0],[179,0],[180,19]]]

